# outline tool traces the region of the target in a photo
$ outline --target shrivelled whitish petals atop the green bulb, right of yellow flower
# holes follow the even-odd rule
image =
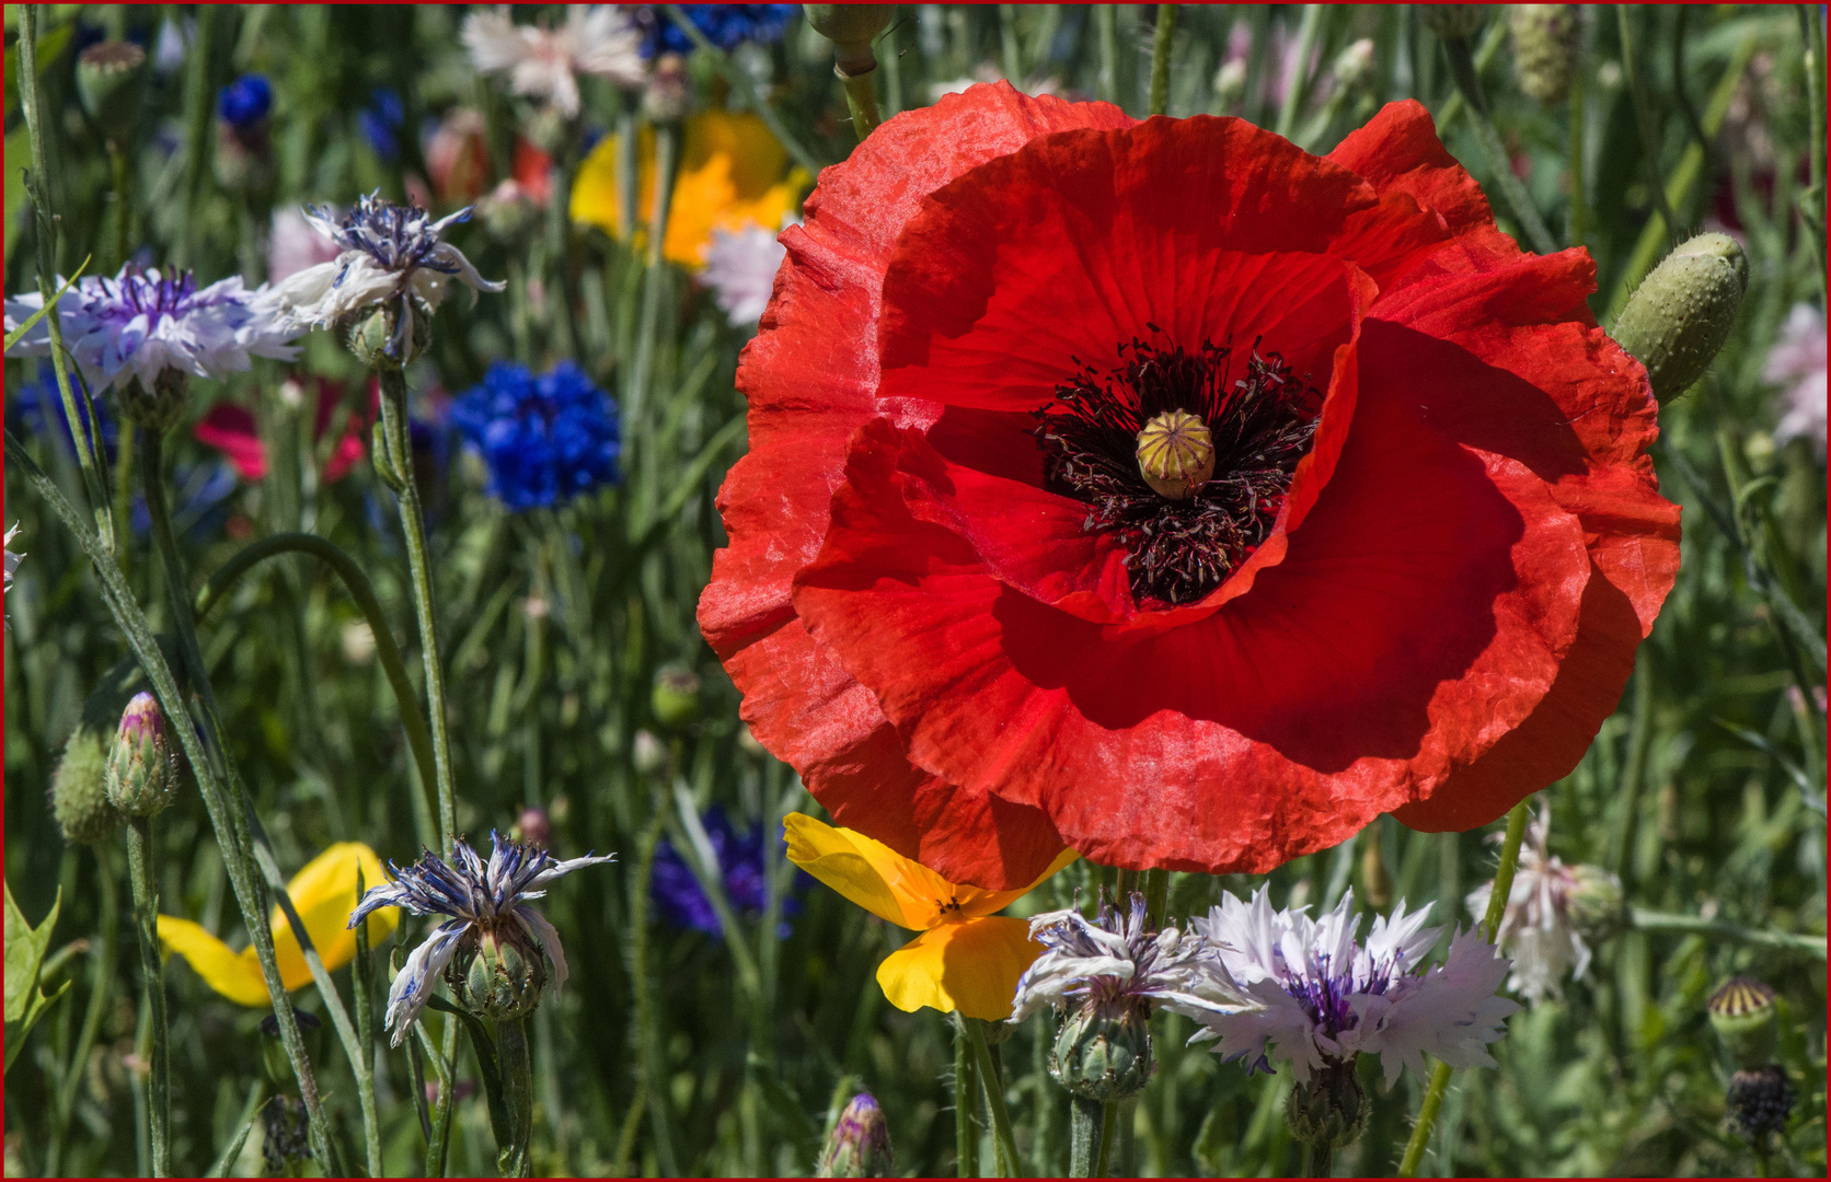
[[[1099,917],[1046,911],[1031,919],[1031,939],[1044,951],[1024,970],[1013,1001],[1018,1023],[1042,1006],[1093,1008],[1099,1017],[1126,1012],[1150,1015],[1155,1003],[1196,1021],[1234,1014],[1252,1003],[1227,977],[1207,940],[1176,928],[1144,926],[1144,897],[1132,897],[1132,913],[1119,915],[1100,902]]]

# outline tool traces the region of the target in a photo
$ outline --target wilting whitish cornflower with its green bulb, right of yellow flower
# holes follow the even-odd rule
[[[1150,1083],[1155,1006],[1207,1023],[1254,1005],[1201,935],[1150,931],[1137,893],[1130,915],[1106,900],[1093,920],[1073,908],[1038,915],[1031,940],[1046,951],[1018,979],[1011,1021],[1046,1005],[1069,1010],[1049,1070],[1086,1100],[1124,1100]]]

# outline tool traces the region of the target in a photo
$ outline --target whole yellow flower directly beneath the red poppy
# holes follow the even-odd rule
[[[1067,849],[1020,891],[958,886],[921,862],[851,829],[811,816],[784,818],[789,862],[872,915],[919,937],[877,966],[877,984],[899,1010],[930,1006],[967,1017],[1011,1017],[1018,977],[1042,955],[1029,939],[1029,920],[992,915],[1073,862]]]

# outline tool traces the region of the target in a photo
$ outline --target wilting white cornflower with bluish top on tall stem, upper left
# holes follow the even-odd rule
[[[335,260],[306,267],[273,287],[273,302],[293,320],[331,328],[355,311],[388,304],[399,317],[388,355],[401,359],[414,338],[416,306],[430,317],[450,282],[472,291],[502,291],[478,274],[463,251],[441,234],[471,218],[469,209],[438,221],[417,205],[395,205],[379,194],[359,198],[341,220],[308,205],[306,221],[341,247]]]

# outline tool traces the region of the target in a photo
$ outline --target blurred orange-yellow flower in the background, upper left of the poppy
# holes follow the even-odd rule
[[[655,210],[655,135],[643,128],[635,143],[639,221]],[[749,112],[709,110],[690,117],[681,145],[681,167],[668,201],[663,254],[685,267],[705,265],[712,231],[782,227],[800,210],[800,198],[813,183],[804,168],[789,168],[789,154],[762,119]],[[573,221],[623,236],[617,209],[617,137],[606,135],[573,179]]]

